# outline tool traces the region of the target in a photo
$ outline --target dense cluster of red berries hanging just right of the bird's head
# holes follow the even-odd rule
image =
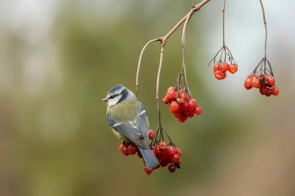
[[[165,104],[169,103],[169,111],[180,123],[185,122],[188,117],[193,118],[195,114],[202,113],[202,108],[198,105],[197,100],[186,95],[183,89],[180,89],[177,94],[176,88],[169,87],[163,101]]]

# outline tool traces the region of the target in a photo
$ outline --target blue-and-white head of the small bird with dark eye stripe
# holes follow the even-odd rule
[[[109,92],[106,98],[103,98],[103,101],[108,101],[108,106],[113,106],[121,101],[125,100],[126,98],[131,98],[135,95],[129,91],[126,87],[124,87],[122,84],[118,84],[114,86]]]

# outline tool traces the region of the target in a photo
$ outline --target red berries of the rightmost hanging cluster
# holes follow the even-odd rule
[[[249,90],[254,88],[259,88],[261,95],[269,97],[271,95],[279,95],[279,88],[274,86],[275,79],[272,75],[268,74],[250,74],[245,80],[244,87]]]

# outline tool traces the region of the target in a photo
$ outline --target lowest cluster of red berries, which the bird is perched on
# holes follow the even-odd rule
[[[154,135],[155,133],[153,130],[148,130],[148,138],[150,140],[153,139]],[[129,154],[133,155],[137,152],[137,155],[140,158],[143,158],[142,154],[138,150],[138,147],[133,142],[121,144],[119,146],[119,150],[125,156],[128,156]],[[175,172],[176,168],[180,168],[181,150],[178,147],[167,145],[166,142],[159,142],[158,145],[151,147],[151,151],[157,157],[160,164],[152,170],[149,170],[146,163],[144,163],[145,172],[148,175],[155,169],[158,169],[160,167],[166,167],[168,165],[168,170],[171,173]]]

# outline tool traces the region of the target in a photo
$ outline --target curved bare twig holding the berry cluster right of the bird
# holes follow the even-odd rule
[[[185,31],[188,25],[189,20],[191,19],[192,15],[196,12],[196,8],[191,9],[191,11],[188,13],[188,17],[185,20],[185,23],[183,25],[182,29],[182,36],[181,36],[181,44],[182,44],[182,68],[181,68],[181,73],[184,73],[184,84],[185,87],[188,91],[189,97],[192,97],[190,90],[187,85],[187,78],[186,78],[186,67],[185,67]]]

